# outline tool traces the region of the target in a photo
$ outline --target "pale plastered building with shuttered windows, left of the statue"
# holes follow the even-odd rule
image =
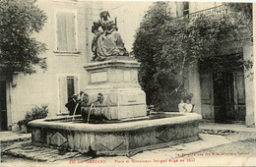
[[[98,20],[102,2],[38,0],[37,5],[45,12],[47,23],[34,36],[47,45],[40,56],[47,58],[48,68],[16,75],[10,84],[0,78],[1,131],[11,130],[35,105],[48,104],[48,116],[67,114],[68,97],[87,83],[84,66],[92,57],[91,27]]]

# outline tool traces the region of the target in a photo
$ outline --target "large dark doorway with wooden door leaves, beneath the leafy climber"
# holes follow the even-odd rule
[[[208,59],[200,65],[203,118],[217,123],[244,124],[244,72],[237,61],[242,60],[242,54]]]

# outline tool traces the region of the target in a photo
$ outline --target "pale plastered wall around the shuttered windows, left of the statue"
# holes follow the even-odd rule
[[[37,4],[47,15],[47,23],[34,37],[47,45],[47,51],[40,55],[47,57],[47,71],[38,68],[36,74],[18,75],[16,86],[10,85],[7,90],[8,99],[8,125],[17,123],[24,118],[26,111],[34,105],[48,104],[48,116],[60,113],[59,103],[59,76],[76,75],[79,78],[79,90],[87,85],[87,73],[84,66],[91,60],[91,27],[94,17],[101,10],[101,2],[38,0]],[[56,11],[74,10],[77,16],[77,48],[79,53],[56,52]],[[63,90],[65,91],[65,90]]]

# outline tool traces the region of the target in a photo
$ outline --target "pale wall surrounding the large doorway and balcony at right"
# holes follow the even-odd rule
[[[189,3],[189,12],[194,13],[197,11],[202,11],[205,9],[213,8],[215,6],[222,5],[221,2],[190,2]],[[181,16],[182,15],[182,2],[170,2],[170,8],[171,12],[173,13],[173,17]],[[244,32],[244,31],[243,31]],[[246,33],[246,32],[245,32]],[[250,42],[250,39],[248,39],[248,36],[245,37],[247,39],[241,40],[236,39],[236,41],[230,42],[228,44],[224,44],[223,47],[220,49],[221,54],[230,54],[231,52],[234,52],[235,50],[241,48],[243,51],[243,58],[244,60],[251,60],[253,61],[253,50],[252,50],[252,43]],[[195,67],[197,69],[197,67]],[[245,71],[244,76],[249,75],[253,72],[253,69],[250,71]],[[189,90],[189,92],[194,94],[194,98],[192,99],[192,103],[195,105],[195,111],[198,113],[201,113],[204,115],[205,111],[201,110],[201,96],[200,96],[200,76],[198,74],[198,71],[193,69],[190,70],[189,73],[189,80],[186,83],[186,88]],[[245,78],[245,97],[246,97],[246,118],[245,123],[246,126],[251,127],[255,125],[255,108],[254,108],[254,100],[255,100],[255,94],[254,94],[254,82],[252,80],[252,77]],[[196,108],[198,107],[198,108]],[[212,114],[214,115],[214,110],[212,110]]]

